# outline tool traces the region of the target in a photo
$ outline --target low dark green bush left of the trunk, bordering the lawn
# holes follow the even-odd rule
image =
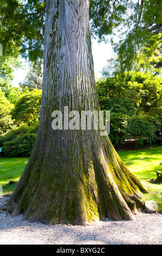
[[[22,125],[0,136],[0,145],[5,156],[30,156],[37,136],[38,124]]]

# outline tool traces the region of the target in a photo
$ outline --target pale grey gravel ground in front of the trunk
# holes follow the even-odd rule
[[[0,198],[0,206],[6,197]],[[136,221],[107,218],[86,227],[45,225],[0,213],[0,245],[162,245],[162,215],[141,212]]]

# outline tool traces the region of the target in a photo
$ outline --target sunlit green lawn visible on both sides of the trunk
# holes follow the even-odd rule
[[[132,151],[118,151],[121,159],[145,186],[148,193],[143,200],[154,200],[162,208],[162,184],[151,184],[148,179],[156,179],[155,170],[162,172],[162,147]],[[15,190],[16,184],[8,185],[10,180],[18,180],[28,162],[27,157],[0,157],[0,185],[3,195]]]

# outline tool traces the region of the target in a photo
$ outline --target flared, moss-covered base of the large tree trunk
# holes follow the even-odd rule
[[[101,145],[98,151],[83,153],[83,162],[75,166],[73,160],[71,168],[66,166],[63,171],[60,164],[56,168],[59,157],[55,157],[57,161],[49,159],[48,166],[47,162],[40,165],[33,161],[35,154],[32,154],[3,210],[12,217],[23,214],[23,220],[44,224],[87,225],[106,217],[116,221],[135,220],[137,209],[142,208],[141,195],[146,190],[129,172],[109,139]],[[43,159],[44,156],[41,163]],[[63,162],[68,163],[68,159]]]

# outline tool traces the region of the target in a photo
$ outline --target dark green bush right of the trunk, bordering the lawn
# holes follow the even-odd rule
[[[134,139],[135,146],[152,143],[161,139],[159,117],[111,113],[109,138],[114,145],[121,145],[126,139]]]

